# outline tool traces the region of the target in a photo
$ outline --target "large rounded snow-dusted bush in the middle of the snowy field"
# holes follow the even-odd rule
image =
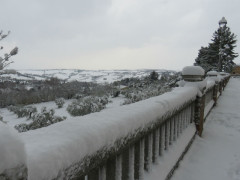
[[[67,111],[72,116],[83,116],[93,112],[99,112],[106,107],[108,97],[87,96],[78,100],[74,100],[68,105]]]

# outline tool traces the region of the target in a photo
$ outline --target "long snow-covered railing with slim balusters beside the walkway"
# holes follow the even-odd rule
[[[191,81],[189,74],[186,77]],[[27,157],[21,178],[27,179],[28,171],[31,180],[142,180],[152,164],[161,163],[161,157],[180,146],[178,140],[184,137],[186,144],[173,153],[175,159],[163,164],[162,177],[168,179],[196,129],[201,135],[204,115],[216,104],[229,76],[210,78],[208,83],[197,79],[148,100],[21,133],[25,149],[20,152]],[[9,176],[8,169],[0,166],[0,178]]]

